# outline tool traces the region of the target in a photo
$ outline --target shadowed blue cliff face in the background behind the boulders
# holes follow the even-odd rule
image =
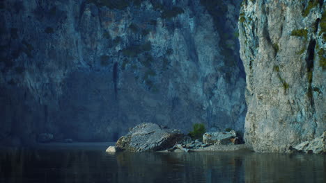
[[[0,1],[0,141],[243,131],[240,1]],[[315,75],[313,75],[315,77]],[[315,81],[314,81],[315,82]]]

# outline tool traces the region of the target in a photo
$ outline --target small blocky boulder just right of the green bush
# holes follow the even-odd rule
[[[228,145],[238,144],[237,133],[234,130],[231,132],[206,132],[203,134],[203,143]]]

